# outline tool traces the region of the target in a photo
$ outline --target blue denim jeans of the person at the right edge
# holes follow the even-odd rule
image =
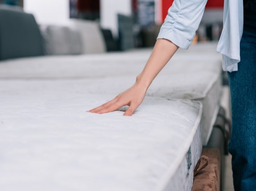
[[[229,151],[235,191],[256,191],[256,1],[244,4],[238,71],[228,73],[232,106]]]

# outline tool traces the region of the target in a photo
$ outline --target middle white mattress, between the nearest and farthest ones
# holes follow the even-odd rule
[[[202,80],[203,79],[203,80]],[[27,80],[20,80],[16,88],[22,91]],[[56,80],[33,80],[31,86],[47,86],[48,91],[70,91],[81,94],[112,94],[118,95],[135,82],[132,75],[114,76],[104,78],[81,78],[81,79],[56,79]],[[55,85],[51,86],[50,84]],[[203,144],[206,145],[215,122],[221,94],[221,78],[219,74],[212,72],[182,73],[165,75],[159,74],[148,89],[146,95],[162,97],[168,100],[199,100],[203,103]],[[110,99],[113,99],[113,96]],[[103,103],[102,103],[103,104]],[[96,107],[97,105],[95,105]]]

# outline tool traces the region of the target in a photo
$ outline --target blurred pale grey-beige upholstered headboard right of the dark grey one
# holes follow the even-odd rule
[[[104,39],[99,23],[94,21],[71,19],[68,26],[43,25],[40,29],[49,55],[104,53],[106,43],[110,43]]]

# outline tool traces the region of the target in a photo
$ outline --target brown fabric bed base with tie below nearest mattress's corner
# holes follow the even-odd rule
[[[221,153],[216,148],[203,148],[194,169],[192,191],[219,191],[221,183]]]

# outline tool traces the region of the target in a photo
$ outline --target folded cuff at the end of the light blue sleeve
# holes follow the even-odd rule
[[[168,39],[172,43],[176,44],[178,47],[183,48],[183,49],[188,49],[190,47],[190,44],[192,43],[192,41],[184,38],[174,28],[167,29],[167,28],[162,27],[160,29],[157,39]]]

